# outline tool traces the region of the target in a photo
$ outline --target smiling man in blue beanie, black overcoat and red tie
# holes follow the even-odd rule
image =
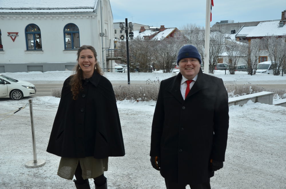
[[[202,73],[193,45],[177,57],[180,73],[163,80],[152,123],[150,161],[167,189],[210,189],[223,167],[229,127],[223,80]]]

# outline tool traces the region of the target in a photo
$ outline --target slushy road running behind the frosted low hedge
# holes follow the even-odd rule
[[[111,81],[112,85],[127,85],[127,81]],[[146,81],[130,81],[131,85],[136,84],[146,84]],[[52,83],[34,83],[37,89],[37,93],[34,96],[51,96],[51,90],[56,88],[62,88],[63,83],[62,82],[52,82]],[[231,84],[227,83],[226,87],[228,85],[237,85],[242,86],[241,84]],[[256,85],[256,84],[253,84]],[[263,87],[264,89],[286,89],[286,84],[257,84],[259,87]]]

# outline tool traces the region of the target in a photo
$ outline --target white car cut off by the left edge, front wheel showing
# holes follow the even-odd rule
[[[18,81],[0,74],[0,98],[21,100],[23,97],[36,94],[35,85],[27,81]]]

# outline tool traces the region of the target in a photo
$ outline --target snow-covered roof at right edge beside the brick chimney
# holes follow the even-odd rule
[[[279,27],[279,20],[260,22],[249,31],[246,37],[264,37],[286,35],[286,25]]]

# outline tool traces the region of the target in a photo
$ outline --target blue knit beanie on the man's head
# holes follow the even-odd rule
[[[200,58],[200,53],[198,53],[198,49],[194,45],[184,45],[177,57],[177,65],[179,65],[179,61],[184,58],[196,58],[202,63],[202,59]]]

